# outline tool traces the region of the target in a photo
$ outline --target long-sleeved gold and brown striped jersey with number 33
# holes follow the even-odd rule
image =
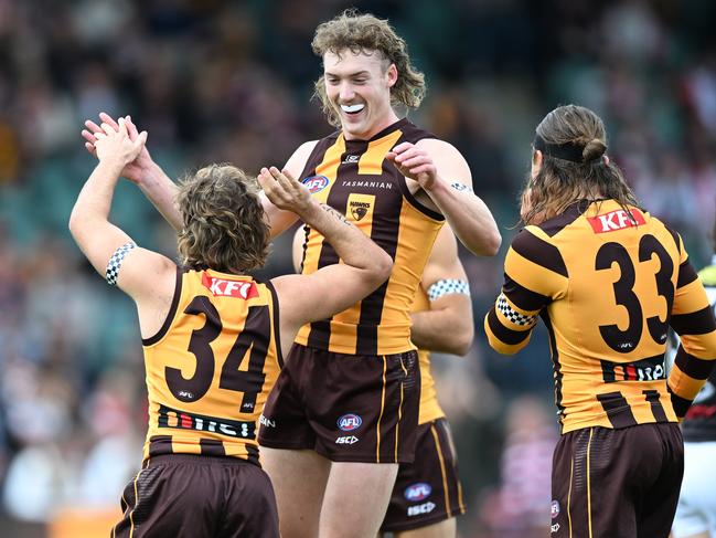
[[[630,212],[633,219],[613,200],[581,201],[526,226],[485,316],[501,352],[524,347],[537,315],[544,320],[563,433],[675,422],[716,358],[714,313],[681,236]],[[669,325],[683,347],[667,388]]]

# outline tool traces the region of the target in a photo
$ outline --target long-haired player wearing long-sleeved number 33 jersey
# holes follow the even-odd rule
[[[716,358],[716,320],[677,233],[635,205],[603,124],[564,106],[536,129],[505,282],[484,328],[514,354],[542,318],[562,439],[552,536],[666,538],[683,473],[677,420]],[[666,379],[672,326],[682,337]]]

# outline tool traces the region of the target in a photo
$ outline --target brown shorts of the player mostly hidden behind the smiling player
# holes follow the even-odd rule
[[[462,485],[448,421],[420,424],[415,461],[400,464],[381,530],[417,529],[460,514]]]

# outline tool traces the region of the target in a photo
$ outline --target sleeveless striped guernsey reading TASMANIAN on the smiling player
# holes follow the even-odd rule
[[[370,140],[345,140],[335,133],[316,145],[301,175],[303,183],[319,202],[345,214],[370,235],[394,265],[389,279],[362,302],[302,327],[298,344],[351,355],[415,349],[410,304],[444,218],[413,197],[385,155],[397,144],[432,137],[400,119]],[[339,263],[335,251],[307,226],[301,272],[310,274],[333,263]]]

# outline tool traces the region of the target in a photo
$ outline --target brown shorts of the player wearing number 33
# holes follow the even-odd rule
[[[666,538],[684,473],[676,423],[564,434],[552,471],[553,538]]]

